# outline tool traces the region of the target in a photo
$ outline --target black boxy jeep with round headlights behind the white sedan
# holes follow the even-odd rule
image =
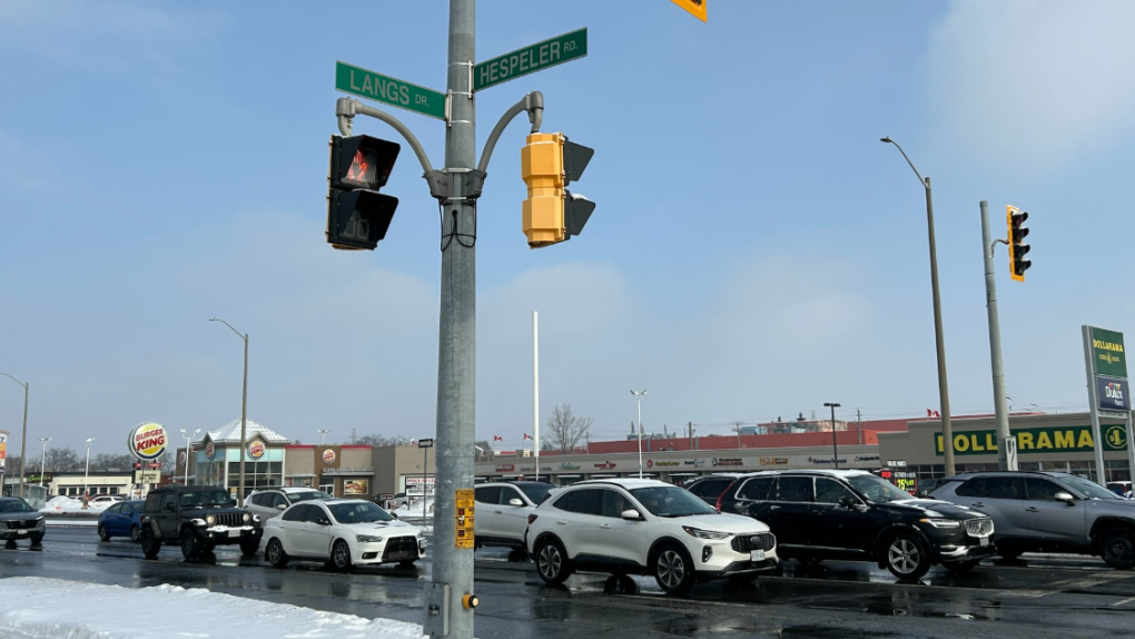
[[[167,486],[151,490],[142,507],[142,553],[153,558],[162,545],[177,544],[182,555],[191,560],[213,546],[239,544],[245,555],[255,554],[263,535],[260,516],[235,505],[224,488]]]

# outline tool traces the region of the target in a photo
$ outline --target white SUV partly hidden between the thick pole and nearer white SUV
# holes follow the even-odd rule
[[[545,481],[497,481],[476,487],[477,546],[524,548],[528,515],[548,498],[555,485]]]

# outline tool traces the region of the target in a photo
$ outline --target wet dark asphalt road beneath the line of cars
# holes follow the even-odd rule
[[[1135,572],[1084,558],[1031,557],[987,564],[965,575],[933,569],[919,583],[897,583],[869,564],[785,562],[749,587],[724,581],[667,597],[651,579],[572,577],[548,587],[532,564],[507,552],[477,554],[477,637],[507,638],[868,638],[1130,637]],[[286,570],[261,557],[218,548],[186,563],[176,547],[143,560],[137,545],[100,543],[92,528],[48,531],[41,550],[26,543],[0,549],[0,575],[37,575],[129,588],[174,583],[317,609],[420,623],[429,562],[414,569],[364,567],[337,573],[314,563]],[[202,611],[205,613],[205,611]],[[207,613],[205,613],[207,614]],[[207,619],[207,617],[203,617]],[[186,629],[192,631],[192,629]]]

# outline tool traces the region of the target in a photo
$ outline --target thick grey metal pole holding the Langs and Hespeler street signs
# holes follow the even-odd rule
[[[477,362],[477,209],[464,177],[476,168],[476,109],[472,65],[476,56],[476,1],[449,0],[448,121],[445,168],[449,196],[442,207],[442,301],[438,326],[437,470],[434,481],[434,571],[426,599],[436,585],[448,585],[449,634],[473,637],[473,612],[462,596],[473,592],[473,552],[457,548],[457,489],[473,487]],[[427,614],[428,612],[427,606]]]

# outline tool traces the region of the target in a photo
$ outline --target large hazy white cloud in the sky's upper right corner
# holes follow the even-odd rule
[[[1105,149],[1135,123],[1133,24],[1128,0],[956,0],[930,35],[930,121],[1000,166]]]

